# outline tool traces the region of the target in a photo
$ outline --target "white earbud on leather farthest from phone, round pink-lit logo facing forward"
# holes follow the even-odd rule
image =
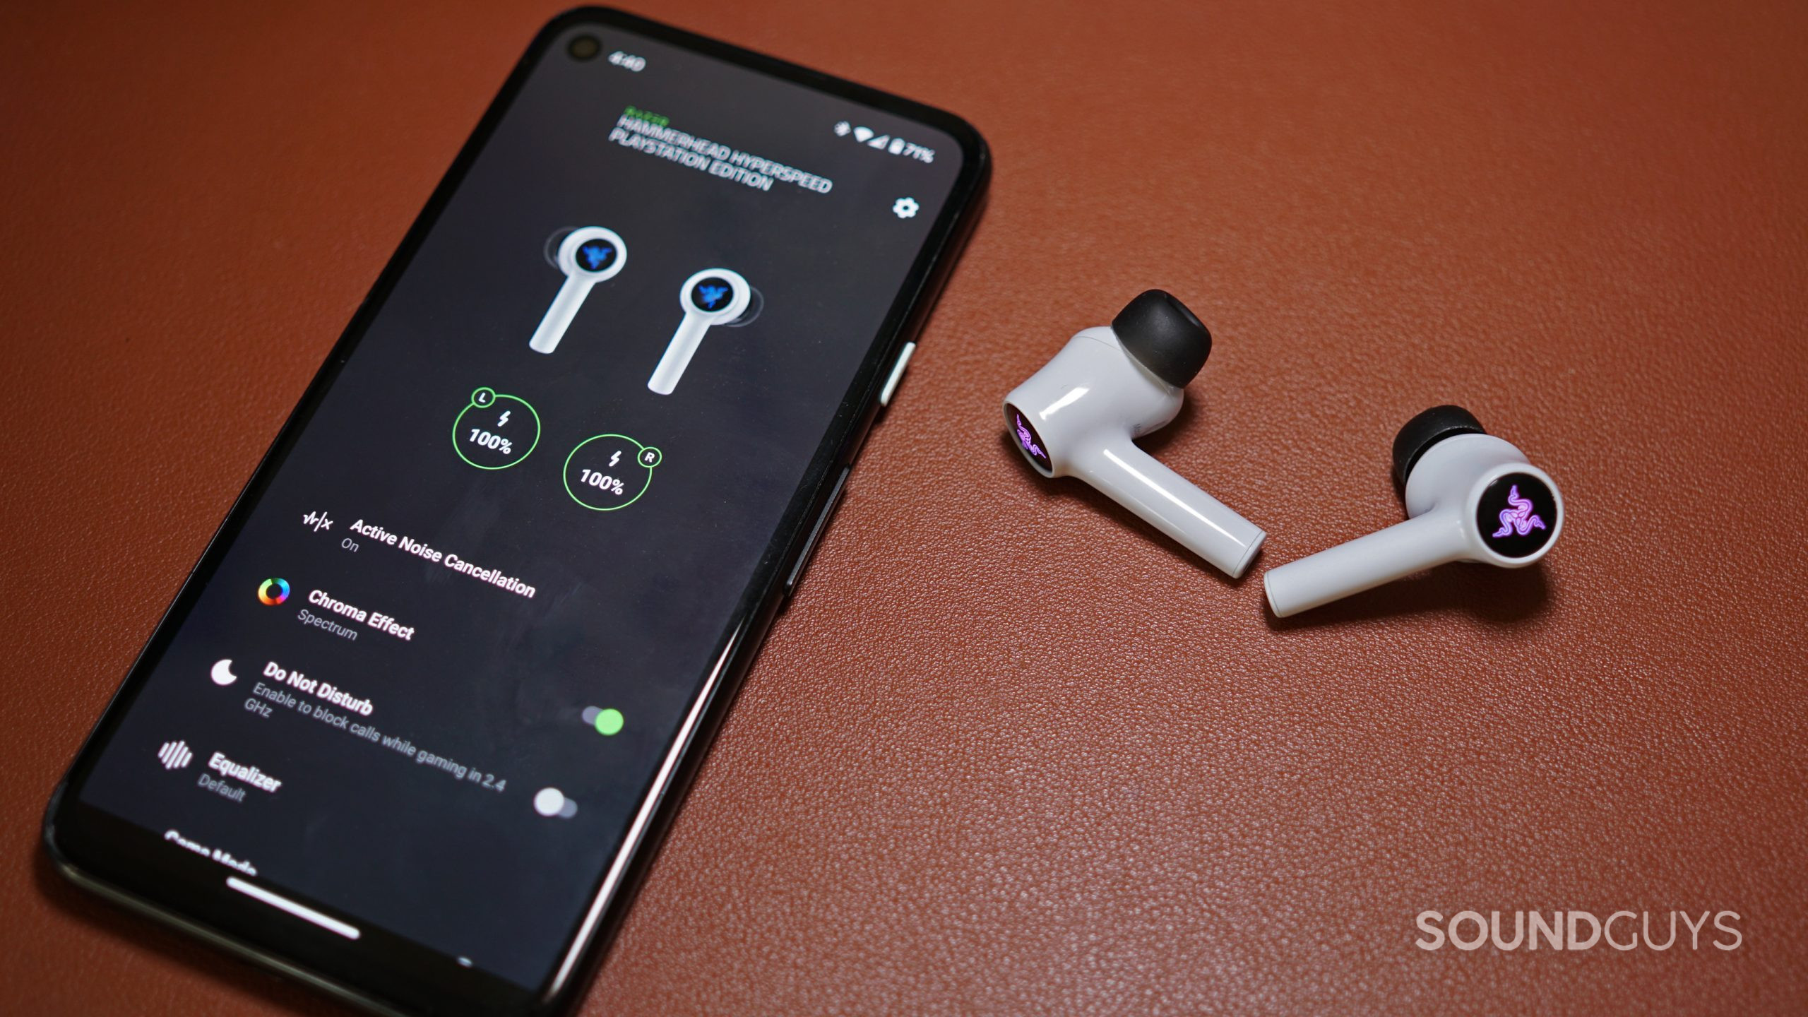
[[[1267,570],[1276,617],[1446,561],[1524,568],[1564,528],[1557,483],[1459,405],[1436,405],[1399,429],[1394,481],[1407,492],[1405,523]]]

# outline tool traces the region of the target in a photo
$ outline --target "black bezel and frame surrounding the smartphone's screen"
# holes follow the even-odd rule
[[[298,919],[293,925],[273,921],[271,914],[246,908],[242,898],[228,892],[217,865],[199,858],[188,860],[145,851],[148,841],[157,840],[154,834],[80,803],[78,791],[92,773],[99,749],[112,738],[119,720],[130,709],[146,675],[155,668],[174,633],[193,610],[202,586],[213,577],[226,547],[242,530],[248,514],[268,490],[271,478],[295,447],[298,434],[313,418],[378,309],[432,232],[477,154],[508,114],[528,74],[548,54],[557,38],[579,25],[633,31],[785,81],[859,101],[891,116],[937,127],[960,145],[962,166],[917,262],[904,277],[884,324],[873,337],[866,358],[812,456],[803,483],[794,492],[779,527],[761,554],[754,579],[743,592],[734,615],[727,619],[716,655],[718,662],[692,700],[685,726],[669,747],[660,773],[642,796],[633,827],[635,836],[626,838],[611,867],[598,872],[591,908],[570,941],[560,968],[539,990],[523,990],[485,972],[448,966],[443,955],[412,941],[389,937],[394,943],[383,943],[381,930],[374,930],[378,936],[372,937],[372,945],[360,946],[365,950],[360,954],[347,952],[344,943],[336,943],[331,934]],[[783,604],[785,577],[806,550],[808,534],[826,508],[833,481],[839,480],[844,467],[852,465],[879,413],[877,396],[895,358],[904,342],[920,331],[935,295],[947,279],[955,255],[971,233],[989,177],[991,154],[985,141],[967,121],[946,110],[624,11],[580,7],[548,22],[535,34],[450,168],[434,186],[421,214],[409,226],[371,293],[334,342],[257,470],[239,492],[219,530],[208,541],[206,550],[58,784],[43,820],[43,843],[56,869],[78,885],[380,1013],[548,1015],[568,1008],[588,986],[606,943],[633,901],[635,889],[645,874],[665,827],[739,689],[767,628]],[[287,890],[284,892],[287,894]],[[311,903],[306,898],[302,901]],[[331,912],[333,908],[322,907],[322,910]]]

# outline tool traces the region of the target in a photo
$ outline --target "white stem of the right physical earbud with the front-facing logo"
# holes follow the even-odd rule
[[[1269,568],[1262,577],[1275,617],[1361,594],[1403,575],[1468,556],[1455,508],[1434,508],[1385,530]]]

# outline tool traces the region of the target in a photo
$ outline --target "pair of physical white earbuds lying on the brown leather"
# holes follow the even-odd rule
[[[1005,431],[1043,476],[1076,476],[1157,530],[1238,577],[1266,534],[1155,461],[1134,440],[1181,413],[1211,353],[1186,304],[1150,290],[1110,328],[1088,328],[1005,396]],[[1327,604],[1446,561],[1522,568],[1564,527],[1564,499],[1524,452],[1461,407],[1432,407],[1394,438],[1405,523],[1271,568],[1276,617]]]

